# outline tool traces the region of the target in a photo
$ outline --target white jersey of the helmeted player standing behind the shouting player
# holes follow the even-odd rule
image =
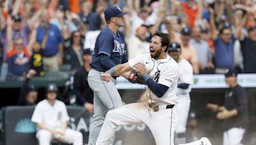
[[[179,81],[180,83],[187,83],[189,87],[187,89],[177,88],[177,95],[191,92],[191,85],[193,84],[193,67],[186,59],[181,59],[178,63],[179,66]]]

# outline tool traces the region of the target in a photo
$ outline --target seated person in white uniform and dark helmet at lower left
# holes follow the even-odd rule
[[[58,87],[49,84],[46,89],[46,99],[40,101],[33,113],[31,121],[36,123],[36,139],[40,145],[50,145],[52,139],[74,145],[83,144],[81,132],[67,128],[69,120],[67,108],[63,102],[56,100]]]

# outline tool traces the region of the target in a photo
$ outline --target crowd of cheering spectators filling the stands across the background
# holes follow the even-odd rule
[[[0,6],[1,79],[19,78],[29,69],[44,76],[60,71],[63,62],[76,72],[84,64],[83,50],[93,50],[106,26],[109,6],[128,12],[121,31],[130,59],[148,53],[150,36],[162,31],[180,43],[194,74],[256,72],[252,0],[15,0]]]

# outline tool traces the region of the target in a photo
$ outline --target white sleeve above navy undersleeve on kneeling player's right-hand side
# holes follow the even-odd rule
[[[158,83],[170,87],[177,77],[179,77],[178,67],[164,67],[160,72]]]

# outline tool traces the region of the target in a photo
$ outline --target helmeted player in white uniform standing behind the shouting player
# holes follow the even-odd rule
[[[168,53],[179,66],[179,81],[177,88],[179,126],[175,131],[175,144],[184,144],[186,143],[186,125],[190,107],[190,85],[193,84],[193,67],[189,64],[188,60],[180,57],[181,48],[179,43],[172,42],[168,49]]]

